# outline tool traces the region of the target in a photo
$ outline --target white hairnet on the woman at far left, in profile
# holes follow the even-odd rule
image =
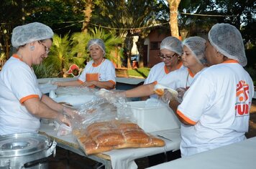
[[[52,29],[39,22],[17,26],[12,31],[12,46],[17,48],[30,42],[50,39],[53,37]]]

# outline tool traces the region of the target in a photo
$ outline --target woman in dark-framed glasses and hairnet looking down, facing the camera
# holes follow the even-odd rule
[[[159,81],[166,74],[176,69],[183,67],[181,61],[182,46],[179,39],[176,37],[166,37],[160,44],[159,57],[163,62],[155,64],[150,69],[147,79],[144,84],[150,84],[155,81]],[[150,95],[150,97],[157,97],[157,95]],[[142,100],[147,100],[147,97],[142,97]]]

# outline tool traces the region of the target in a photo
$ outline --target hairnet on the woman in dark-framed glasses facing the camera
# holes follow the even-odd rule
[[[160,44],[160,49],[168,49],[180,55],[183,51],[180,40],[175,37],[165,37]]]

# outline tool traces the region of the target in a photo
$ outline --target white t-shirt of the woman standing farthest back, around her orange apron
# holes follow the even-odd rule
[[[86,64],[83,72],[78,77],[80,82],[86,82],[86,74],[97,74],[99,81],[109,81],[116,84],[116,71],[114,64],[108,59],[103,59],[101,64],[93,66],[93,60]]]

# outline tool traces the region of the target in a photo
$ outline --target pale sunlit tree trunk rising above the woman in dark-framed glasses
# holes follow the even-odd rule
[[[168,0],[170,9],[170,34],[173,37],[179,38],[178,34],[178,5],[180,0]]]

